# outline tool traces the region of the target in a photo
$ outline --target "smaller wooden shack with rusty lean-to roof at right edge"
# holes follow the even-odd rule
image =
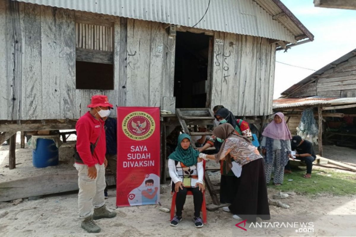
[[[324,143],[356,147],[356,49],[291,86],[273,101],[274,111],[289,115],[286,119],[292,134],[296,134],[301,111],[307,107],[315,108],[315,115],[324,120],[319,122],[319,138]],[[322,153],[322,142],[319,144]]]

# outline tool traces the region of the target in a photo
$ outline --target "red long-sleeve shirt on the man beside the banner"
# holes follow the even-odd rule
[[[77,130],[77,151],[84,164],[88,165],[88,167],[104,163],[106,153],[104,123],[102,119],[99,121],[88,112],[80,117],[75,125],[75,129]],[[95,144],[99,134],[98,144],[96,144],[94,153],[91,155],[90,143]]]

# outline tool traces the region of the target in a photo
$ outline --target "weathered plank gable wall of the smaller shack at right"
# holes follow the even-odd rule
[[[318,96],[356,96],[356,55],[320,75],[316,92]]]

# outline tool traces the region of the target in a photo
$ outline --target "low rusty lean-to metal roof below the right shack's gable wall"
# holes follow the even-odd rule
[[[356,98],[327,98],[312,96],[307,98],[281,98],[273,100],[273,109],[321,105],[355,104]]]

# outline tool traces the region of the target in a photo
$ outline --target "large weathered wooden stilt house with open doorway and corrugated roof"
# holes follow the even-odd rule
[[[0,0],[0,144],[75,128],[95,94],[268,115],[276,49],[313,39],[280,0]]]

